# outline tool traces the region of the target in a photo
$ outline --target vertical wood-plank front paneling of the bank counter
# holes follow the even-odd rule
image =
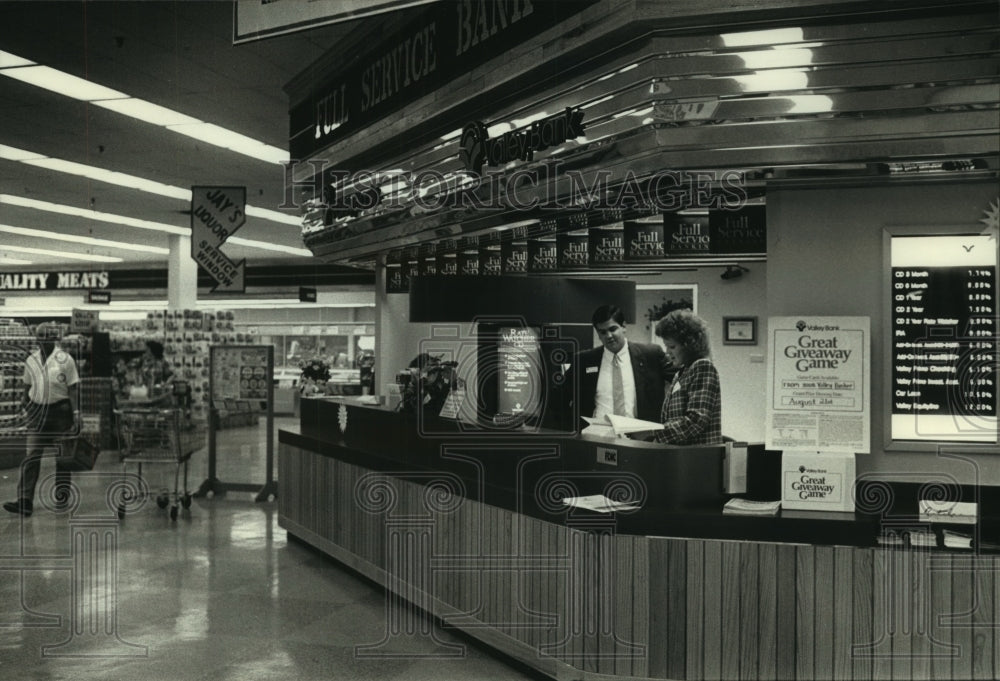
[[[1000,671],[995,556],[630,535],[622,514],[543,520],[288,439],[279,524],[393,594],[387,641],[433,616],[567,681]]]

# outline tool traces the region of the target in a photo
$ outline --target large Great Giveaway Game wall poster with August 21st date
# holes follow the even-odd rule
[[[868,317],[771,317],[767,449],[871,451]]]

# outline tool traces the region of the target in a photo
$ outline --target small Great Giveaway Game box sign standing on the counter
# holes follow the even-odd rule
[[[781,456],[781,507],[803,511],[854,511],[854,454],[785,452]]]

